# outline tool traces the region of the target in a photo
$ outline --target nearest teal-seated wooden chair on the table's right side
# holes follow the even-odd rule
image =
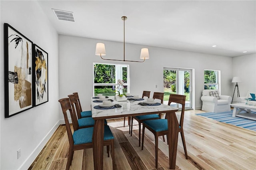
[[[181,115],[180,115],[180,128],[179,132],[181,134],[183,148],[185,152],[186,159],[188,159],[188,153],[186,149],[186,142],[183,132],[183,120],[184,120],[184,110],[185,110],[185,102],[186,102],[186,96],[185,95],[170,95],[168,105],[170,105],[172,102],[179,103],[182,105]],[[168,134],[168,120],[167,119],[156,119],[156,120],[147,120],[143,121],[143,127],[142,127],[142,147],[143,150],[143,144],[144,144],[144,133],[145,128],[150,130],[154,136],[155,136],[155,146],[156,146],[156,168],[158,164],[158,136],[167,135]],[[167,142],[169,142],[167,140]]]

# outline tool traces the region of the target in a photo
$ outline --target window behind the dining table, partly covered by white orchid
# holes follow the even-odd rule
[[[118,79],[123,81],[124,88],[120,93],[129,91],[129,65],[93,63],[93,95],[114,96],[117,92]]]

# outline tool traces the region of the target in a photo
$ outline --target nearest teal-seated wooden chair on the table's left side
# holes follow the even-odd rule
[[[74,130],[73,134],[70,128],[70,124],[68,121],[67,111],[70,112],[70,116],[74,115],[72,106],[70,104],[69,98],[64,98],[59,100],[62,112],[64,115],[64,120],[66,124],[66,129],[68,133],[68,141],[69,141],[69,150],[68,150],[68,162],[66,164],[66,170],[69,170],[70,165],[72,163],[74,150],[81,150],[92,148],[92,133],[93,127],[88,128],[80,128],[78,130]],[[110,128],[105,125],[104,127],[104,141],[103,145],[107,146],[107,153],[109,157],[109,146],[111,145],[111,153],[112,153],[112,167],[114,170],[114,136],[110,130]]]

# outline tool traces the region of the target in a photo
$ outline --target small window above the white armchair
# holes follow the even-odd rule
[[[204,70],[204,89],[220,89],[220,71]]]

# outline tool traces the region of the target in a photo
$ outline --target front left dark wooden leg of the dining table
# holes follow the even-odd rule
[[[95,120],[92,134],[94,170],[103,169],[104,119]]]

